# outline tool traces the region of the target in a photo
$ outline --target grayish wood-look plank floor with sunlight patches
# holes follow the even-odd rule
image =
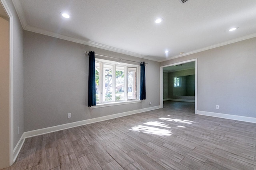
[[[194,114],[194,103],[26,139],[4,170],[256,170],[256,124]]]

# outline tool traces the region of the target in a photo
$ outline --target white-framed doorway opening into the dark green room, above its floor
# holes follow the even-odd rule
[[[194,102],[197,110],[197,59],[160,67],[160,107],[164,101]]]

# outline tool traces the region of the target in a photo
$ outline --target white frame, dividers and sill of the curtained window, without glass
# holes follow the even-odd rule
[[[90,108],[97,107],[106,107],[106,106],[116,106],[121,104],[130,104],[130,103],[138,103],[140,101],[140,66],[135,64],[127,64],[120,63],[115,61],[103,60],[103,59],[95,59],[95,63],[99,63],[100,66],[100,81],[99,81],[99,102],[96,102],[96,106],[92,106]],[[104,77],[104,64],[113,66],[113,76],[112,76],[112,101],[104,101],[104,88],[105,88],[105,77]],[[124,100],[116,101],[116,66],[124,67]],[[128,67],[137,68],[137,76],[136,76],[136,99],[129,100],[128,99]]]

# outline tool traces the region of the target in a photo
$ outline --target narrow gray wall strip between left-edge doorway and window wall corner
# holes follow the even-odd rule
[[[13,17],[14,147],[24,133],[23,28],[11,0],[6,0]],[[18,127],[20,132],[18,134]]]

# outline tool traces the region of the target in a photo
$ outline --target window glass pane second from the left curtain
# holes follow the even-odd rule
[[[105,101],[113,101],[112,99],[112,84],[113,84],[113,66],[104,64],[104,76],[105,76]]]

